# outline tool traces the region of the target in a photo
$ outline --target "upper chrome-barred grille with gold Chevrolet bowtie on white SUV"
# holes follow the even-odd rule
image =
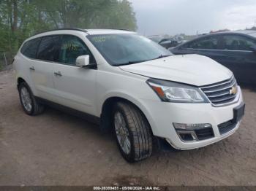
[[[232,91],[235,90],[237,92],[236,79],[232,77],[222,82],[200,87],[200,89],[203,90],[203,93],[206,94],[212,104],[228,104],[236,98],[237,93]]]

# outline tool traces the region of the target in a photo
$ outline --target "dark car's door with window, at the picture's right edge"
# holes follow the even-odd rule
[[[255,39],[239,34],[226,34],[220,39],[222,64],[233,71],[238,82],[256,83],[256,54],[251,47]]]

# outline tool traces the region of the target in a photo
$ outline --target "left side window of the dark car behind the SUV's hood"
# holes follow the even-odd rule
[[[208,36],[203,39],[195,40],[187,45],[188,48],[194,49],[217,49],[218,39],[217,36]]]

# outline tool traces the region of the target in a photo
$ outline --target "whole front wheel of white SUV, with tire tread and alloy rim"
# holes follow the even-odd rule
[[[126,102],[118,102],[113,108],[113,129],[118,149],[129,163],[151,156],[151,128],[137,107]]]

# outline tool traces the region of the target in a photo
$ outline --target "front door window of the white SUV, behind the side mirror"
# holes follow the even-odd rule
[[[90,55],[90,63],[95,63],[93,55],[82,40],[76,36],[62,36],[59,62],[75,65],[75,60],[80,55]]]

